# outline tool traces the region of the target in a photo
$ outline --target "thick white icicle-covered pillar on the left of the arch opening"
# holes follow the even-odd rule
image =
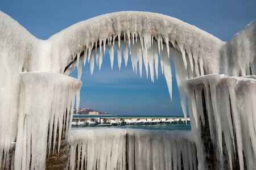
[[[44,169],[47,151],[55,149],[57,131],[59,151],[61,134],[71,127],[81,82],[56,73],[27,72],[20,73],[20,83],[14,168]]]

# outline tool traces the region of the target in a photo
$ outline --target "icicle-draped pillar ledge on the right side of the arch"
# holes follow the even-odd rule
[[[217,148],[217,167],[224,167],[225,155],[229,168],[238,156],[240,169],[255,169],[256,159],[256,76],[228,77],[205,75],[188,81],[188,104],[193,137],[201,138],[204,126],[202,90],[204,90],[210,138]],[[225,144],[223,144],[225,143]],[[225,148],[223,148],[225,147]],[[246,163],[243,162],[243,156]]]

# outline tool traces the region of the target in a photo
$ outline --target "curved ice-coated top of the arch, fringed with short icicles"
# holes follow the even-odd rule
[[[170,16],[151,12],[115,12],[77,23],[50,37],[47,41],[57,47],[52,49],[53,65],[59,66],[52,71],[64,73],[65,67],[83,51],[90,57],[94,48],[99,46],[101,51],[103,46],[105,52],[106,44],[115,38],[118,46],[121,39],[129,44],[141,39],[142,46],[144,44],[147,49],[152,39],[158,41],[159,49],[163,50],[163,43],[172,46],[181,52],[185,67],[190,66],[198,75],[203,75],[204,70],[207,73],[218,71],[218,51],[224,45],[209,33]],[[169,56],[168,48],[167,54]],[[189,59],[186,59],[186,54]]]

